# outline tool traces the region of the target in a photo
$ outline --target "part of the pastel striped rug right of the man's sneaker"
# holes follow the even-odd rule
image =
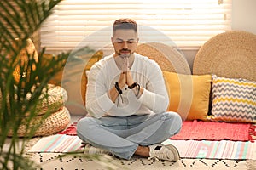
[[[183,158],[246,160],[256,157],[256,144],[252,142],[166,140],[163,144],[176,146]]]

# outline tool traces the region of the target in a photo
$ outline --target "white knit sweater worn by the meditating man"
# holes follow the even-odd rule
[[[119,98],[113,103],[108,91],[119,81],[121,70],[117,67],[113,54],[93,65],[88,73],[86,109],[90,116],[131,116],[164,112],[169,104],[165,81],[160,66],[154,60],[135,54],[131,66],[134,82],[144,88],[137,99],[134,92],[122,89],[123,102]],[[118,101],[119,100],[119,101]],[[118,104],[117,104],[118,103]]]

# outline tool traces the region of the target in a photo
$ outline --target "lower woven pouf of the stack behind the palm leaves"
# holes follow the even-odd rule
[[[59,111],[51,113],[46,118],[45,116],[44,114],[33,117],[29,127],[26,127],[26,122],[29,119],[29,116],[26,116],[17,131],[18,136],[26,137],[31,132],[31,129],[37,129],[32,133],[32,136],[51,135],[64,130],[70,122],[70,114],[66,107],[62,107]],[[28,132],[26,132],[26,129],[28,129]],[[9,132],[9,136],[13,136],[13,133]]]

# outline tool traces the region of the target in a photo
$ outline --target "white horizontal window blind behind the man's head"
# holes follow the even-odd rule
[[[142,42],[199,47],[231,29],[231,0],[64,0],[40,29],[41,47],[54,53],[87,42],[110,43],[113,21],[132,18]]]

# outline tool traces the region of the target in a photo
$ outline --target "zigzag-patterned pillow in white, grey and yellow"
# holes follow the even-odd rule
[[[256,122],[256,82],[212,75],[215,121]]]

